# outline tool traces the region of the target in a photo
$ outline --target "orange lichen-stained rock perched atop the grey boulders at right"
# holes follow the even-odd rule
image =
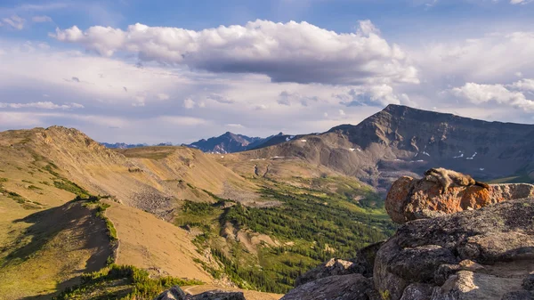
[[[510,199],[534,197],[534,185],[527,183],[450,187],[441,194],[441,185],[425,179],[403,176],[393,182],[385,209],[395,223],[478,209]]]

